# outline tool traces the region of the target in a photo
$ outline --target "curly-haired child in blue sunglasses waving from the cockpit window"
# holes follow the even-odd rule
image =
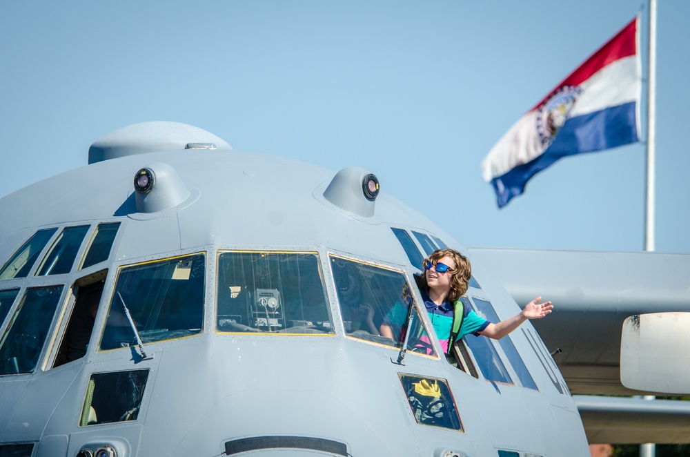
[[[464,306],[460,297],[469,288],[472,269],[467,257],[455,249],[439,249],[424,260],[424,275],[420,281],[420,292],[436,336],[444,353],[449,353],[449,341],[457,341],[471,333],[498,340],[520,327],[528,319],[540,319],[551,313],[551,302],[540,303],[537,297],[512,318],[497,323],[489,322]],[[455,317],[457,313],[457,317]],[[457,325],[457,319],[462,320]],[[455,326],[453,324],[456,324]],[[457,327],[457,332],[453,331]],[[393,338],[393,329],[384,322],[382,336]]]

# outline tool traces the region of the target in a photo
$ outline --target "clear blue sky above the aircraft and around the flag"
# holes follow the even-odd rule
[[[112,130],[179,121],[239,150],[367,168],[465,246],[640,251],[642,144],[563,159],[502,210],[480,162],[640,11],[645,48],[645,3],[5,1],[0,195],[85,165]],[[689,17],[687,0],[659,1],[662,252],[690,253]]]

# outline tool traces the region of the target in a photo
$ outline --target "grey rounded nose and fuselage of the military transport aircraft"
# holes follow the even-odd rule
[[[371,171],[172,122],[88,163],[0,200],[0,456],[589,456],[569,342],[525,322],[446,361],[415,273],[468,251]],[[466,306],[515,315],[473,273]]]

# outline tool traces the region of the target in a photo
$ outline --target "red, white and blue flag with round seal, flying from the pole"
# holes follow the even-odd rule
[[[482,162],[499,208],[566,155],[638,141],[640,54],[636,17],[522,116]]]

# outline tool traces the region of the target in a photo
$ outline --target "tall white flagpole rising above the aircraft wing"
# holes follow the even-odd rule
[[[649,0],[649,75],[647,78],[647,188],[644,251],[654,251],[654,175],[656,132],[656,0]]]

